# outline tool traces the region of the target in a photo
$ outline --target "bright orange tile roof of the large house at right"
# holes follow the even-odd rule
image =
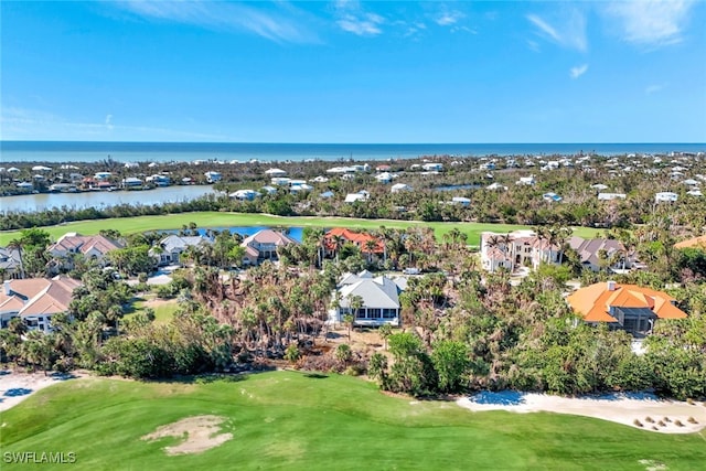
[[[577,290],[567,298],[569,306],[587,322],[617,322],[608,312],[616,308],[648,308],[660,319],[684,319],[686,313],[672,304],[674,298],[665,292],[637,285],[618,285],[608,290],[608,283],[599,282]]]

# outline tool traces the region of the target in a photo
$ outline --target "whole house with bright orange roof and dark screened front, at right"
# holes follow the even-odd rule
[[[652,331],[657,319],[685,319],[687,315],[671,296],[637,285],[598,282],[578,289],[567,298],[571,309],[590,324],[608,323],[633,335]]]

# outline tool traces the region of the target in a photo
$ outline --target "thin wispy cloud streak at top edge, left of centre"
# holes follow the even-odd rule
[[[318,42],[315,34],[295,18],[299,12],[285,3],[272,3],[281,7],[277,11],[258,8],[257,3],[207,0],[125,0],[114,4],[143,18],[216,31],[244,31],[278,43]]]

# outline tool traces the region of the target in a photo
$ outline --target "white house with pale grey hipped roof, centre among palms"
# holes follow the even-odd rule
[[[339,306],[330,311],[329,319],[333,322],[344,322],[345,317],[352,314],[355,325],[399,325],[399,295],[405,283],[406,279],[402,277],[374,278],[368,271],[344,275],[335,295]],[[360,307],[355,303],[359,297]]]

